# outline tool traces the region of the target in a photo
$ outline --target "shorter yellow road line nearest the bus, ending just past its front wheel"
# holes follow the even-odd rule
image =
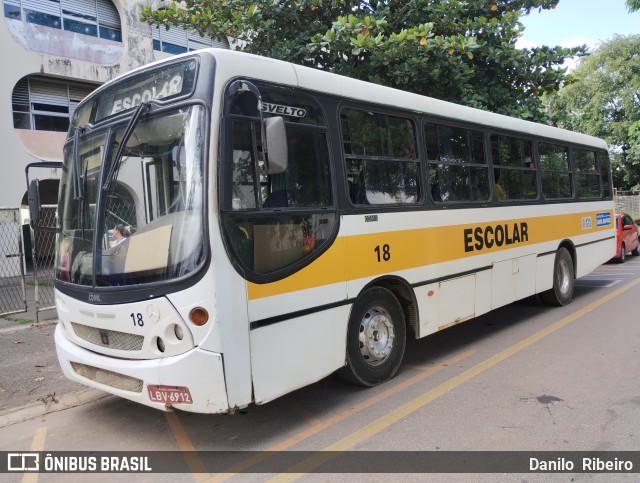
[[[252,458],[248,458],[245,461],[243,461],[242,463],[239,463],[238,465],[229,468],[228,470],[218,474],[218,475],[214,475],[212,478],[209,478],[207,480],[207,483],[213,483],[213,482],[220,482],[220,481],[225,481],[229,478],[231,478],[232,476],[236,475],[237,473],[241,473],[243,471],[246,471],[247,469],[251,468],[252,466],[255,466],[263,461],[265,461],[266,459],[268,459],[270,457],[268,452],[271,451],[284,451],[287,448],[290,448],[298,443],[300,443],[301,441],[315,435],[318,434],[321,431],[324,431],[327,428],[330,428],[331,426],[334,426],[335,424],[339,423],[340,421],[343,421],[345,419],[347,419],[349,416],[352,416],[354,414],[359,413],[360,411],[363,411],[371,406],[373,406],[374,404],[379,403],[380,401],[388,398],[389,396],[392,396],[394,394],[399,393],[400,391],[405,390],[406,388],[414,385],[415,383],[426,379],[429,376],[432,376],[434,374],[436,374],[437,372],[441,371],[442,369],[445,369],[448,366],[457,364],[458,362],[461,362],[462,360],[466,359],[467,357],[469,357],[470,355],[474,354],[476,351],[473,349],[470,349],[468,351],[462,352],[460,354],[457,354],[453,357],[450,357],[449,359],[443,361],[442,363],[436,365],[436,366],[432,366],[432,367],[418,367],[418,370],[420,370],[419,374],[416,374],[415,376],[410,377],[409,379],[406,379],[402,382],[400,382],[399,384],[396,384],[392,387],[389,387],[388,389],[380,392],[379,394],[376,394],[373,397],[370,397],[368,399],[365,399],[364,401],[362,401],[359,404],[356,404],[355,406],[347,409],[346,411],[342,411],[338,414],[336,414],[335,416],[332,416],[330,418],[327,418],[325,420],[322,420],[316,424],[314,424],[313,426],[305,429],[304,431],[301,431],[300,433],[297,433],[293,436],[291,436],[290,438],[285,439],[284,441],[281,441],[280,443],[271,446],[270,448],[266,449],[265,453],[260,453]]]

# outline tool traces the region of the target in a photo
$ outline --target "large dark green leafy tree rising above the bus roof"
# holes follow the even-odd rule
[[[518,49],[522,15],[558,0],[184,0],[151,25],[223,33],[243,50],[525,119],[570,81],[575,48]]]

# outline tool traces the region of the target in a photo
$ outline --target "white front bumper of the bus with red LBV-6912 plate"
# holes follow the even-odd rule
[[[75,345],[62,323],[55,342],[62,371],[72,381],[165,411],[229,412],[221,354],[195,348],[160,359],[118,359]]]

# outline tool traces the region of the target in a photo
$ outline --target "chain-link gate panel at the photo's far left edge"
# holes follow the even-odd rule
[[[0,208],[0,315],[27,311],[18,208]]]

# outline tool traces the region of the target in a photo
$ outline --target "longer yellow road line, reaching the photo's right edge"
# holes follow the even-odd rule
[[[480,362],[479,364],[476,364],[472,368],[462,372],[461,374],[458,374],[455,377],[452,377],[447,382],[440,384],[438,387],[432,389],[431,391],[415,398],[412,401],[409,401],[408,403],[400,406],[399,408],[394,409],[393,411],[386,414],[385,416],[382,416],[376,419],[373,423],[352,433],[346,438],[343,438],[340,441],[337,441],[336,443],[330,446],[327,446],[324,450],[307,458],[301,463],[291,467],[290,469],[287,470],[287,472],[277,475],[276,477],[274,477],[272,480],[269,480],[269,481],[283,482],[283,481],[297,480],[302,475],[313,471],[314,469],[318,468],[319,466],[333,459],[336,455],[335,453],[332,453],[332,452],[347,451],[353,448],[358,443],[361,443],[362,441],[368,438],[371,438],[373,435],[379,433],[383,429],[388,428],[390,425],[400,421],[401,419],[405,418],[409,414],[426,406],[430,402],[438,399],[440,396],[447,394],[452,389],[455,389],[458,386],[461,386],[465,382],[469,381],[470,379],[473,379],[479,374],[482,374],[486,370],[492,368],[493,366],[502,362],[508,357],[511,357],[514,354],[517,354],[518,352],[535,344],[536,342],[539,342],[540,340],[544,339],[548,335],[553,334],[554,332],[565,327],[571,322],[574,322],[580,317],[588,314],[589,312],[592,312],[596,308],[622,295],[623,293],[632,289],[638,284],[640,284],[640,279],[637,279],[631,283],[628,283],[627,285],[619,288],[614,292],[611,292],[610,294],[602,297],[599,300],[596,300],[595,302],[587,305],[586,307],[578,310],[577,312],[574,312],[573,314],[568,315],[567,317],[559,320],[558,322],[551,324],[547,328],[542,329],[539,332],[536,332],[535,334],[527,337],[526,339],[518,342],[517,344],[514,344],[511,347],[489,357],[488,359],[485,359],[484,361]]]

